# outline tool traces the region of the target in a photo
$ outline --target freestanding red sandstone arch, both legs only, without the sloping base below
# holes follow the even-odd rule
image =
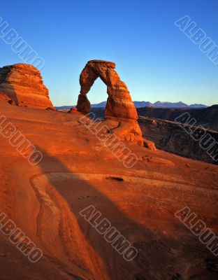
[[[101,78],[107,86],[108,100],[105,117],[127,118],[137,120],[138,114],[131,100],[126,84],[120,80],[115,71],[115,63],[104,60],[90,60],[80,74],[80,95],[77,109],[89,113],[91,105],[87,93],[97,78]]]

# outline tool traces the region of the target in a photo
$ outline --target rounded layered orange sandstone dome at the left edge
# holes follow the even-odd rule
[[[54,109],[41,73],[29,64],[0,68],[0,99],[37,109]]]

